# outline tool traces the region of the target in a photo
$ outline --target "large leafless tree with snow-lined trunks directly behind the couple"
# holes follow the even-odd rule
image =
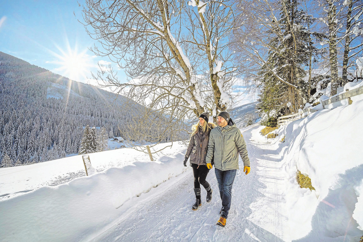
[[[131,80],[119,80],[111,65],[94,78],[150,112],[178,120],[205,111],[215,116],[234,98],[232,9],[231,1],[87,0],[85,27],[102,46],[92,51],[109,56]]]

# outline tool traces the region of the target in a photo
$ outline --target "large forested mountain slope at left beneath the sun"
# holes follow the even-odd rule
[[[126,108],[126,103],[129,103]],[[0,162],[42,162],[78,153],[83,128],[122,136],[138,105],[0,52]]]

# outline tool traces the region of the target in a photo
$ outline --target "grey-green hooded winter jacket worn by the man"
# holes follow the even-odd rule
[[[206,162],[211,163],[214,153],[214,166],[219,170],[235,170],[238,167],[238,153],[244,166],[250,166],[246,142],[240,129],[230,119],[225,127],[212,129],[209,136]]]

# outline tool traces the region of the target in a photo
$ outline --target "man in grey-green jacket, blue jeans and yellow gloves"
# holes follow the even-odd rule
[[[240,129],[232,121],[229,113],[220,112],[217,115],[218,127],[212,129],[209,136],[207,166],[212,168],[214,154],[214,168],[222,199],[222,209],[217,225],[224,227],[231,207],[232,185],[238,168],[238,153],[240,154],[246,175],[250,172],[250,161],[247,154],[246,142]]]

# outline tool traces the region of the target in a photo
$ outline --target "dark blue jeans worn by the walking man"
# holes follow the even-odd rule
[[[227,218],[228,211],[231,208],[232,200],[232,185],[234,177],[236,177],[237,170],[225,170],[221,171],[217,168],[214,169],[216,172],[216,178],[219,187],[219,194],[222,199],[221,217]]]

